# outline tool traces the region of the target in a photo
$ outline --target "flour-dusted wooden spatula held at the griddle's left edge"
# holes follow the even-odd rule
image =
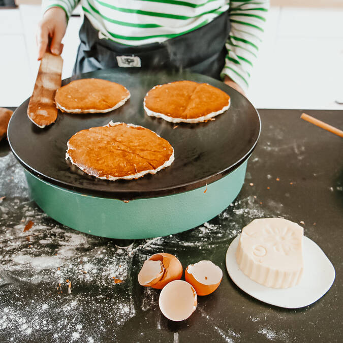
[[[44,128],[57,118],[55,92],[61,86],[63,59],[46,52],[41,60],[34,92],[27,108],[27,115],[38,127]]]

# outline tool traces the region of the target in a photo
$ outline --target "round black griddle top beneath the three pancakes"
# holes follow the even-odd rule
[[[85,194],[122,200],[171,195],[213,182],[241,164],[254,149],[260,119],[256,109],[240,93],[204,75],[102,70],[82,75],[118,82],[131,92],[130,100],[105,114],[59,112],[51,126],[40,129],[27,117],[26,100],[11,118],[8,137],[17,159],[38,177]],[[66,79],[63,84],[69,83]],[[154,85],[177,80],[207,82],[226,91],[231,107],[207,123],[173,124],[145,114],[143,98]],[[100,180],[72,171],[65,161],[67,141],[76,132],[104,126],[110,120],[133,123],[157,132],[174,147],[175,161],[155,175],[132,181]],[[176,128],[175,128],[176,127]]]

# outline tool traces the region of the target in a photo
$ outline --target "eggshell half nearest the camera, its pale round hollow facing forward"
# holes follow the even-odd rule
[[[193,286],[183,280],[174,280],[160,293],[159,306],[163,315],[179,322],[189,318],[197,308],[197,293]]]

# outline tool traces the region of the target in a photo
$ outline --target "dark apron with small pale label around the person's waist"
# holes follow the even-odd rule
[[[73,75],[106,68],[188,70],[220,79],[230,31],[228,12],[210,23],[163,43],[127,46],[99,39],[99,32],[84,17]]]

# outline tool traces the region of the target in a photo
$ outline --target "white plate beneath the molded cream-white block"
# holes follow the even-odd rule
[[[286,289],[260,285],[247,277],[236,262],[239,235],[231,242],[226,253],[226,268],[232,281],[245,293],[267,304],[298,308],[314,303],[332,286],[335,269],[321,248],[307,237],[303,240],[304,270],[300,283]]]

